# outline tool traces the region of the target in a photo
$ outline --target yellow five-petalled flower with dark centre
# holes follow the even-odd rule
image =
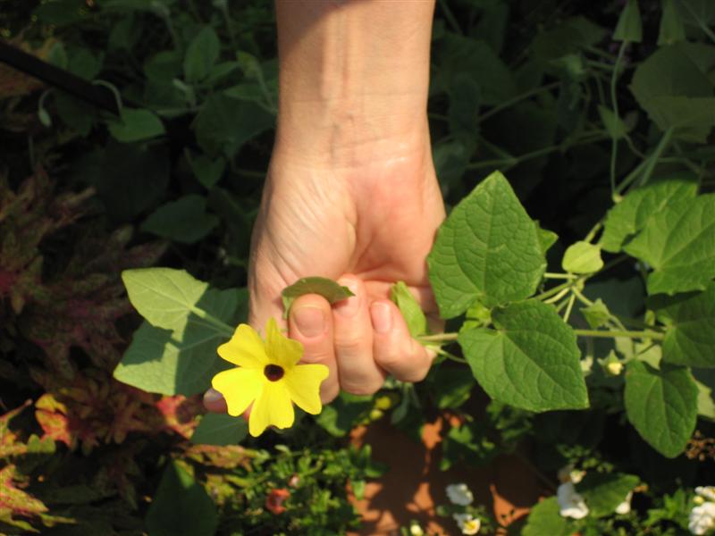
[[[292,426],[292,402],[309,414],[319,414],[320,384],[328,377],[324,364],[298,364],[303,345],[284,337],[273,318],[265,331],[264,342],[248,324],[240,324],[231,340],[218,348],[219,356],[239,366],[211,381],[226,399],[229,415],[241,415],[253,403],[248,431],[254,437],[267,426]]]

